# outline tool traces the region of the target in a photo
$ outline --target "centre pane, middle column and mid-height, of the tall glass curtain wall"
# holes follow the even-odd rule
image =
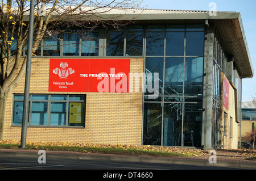
[[[164,95],[183,94],[183,57],[166,58]]]

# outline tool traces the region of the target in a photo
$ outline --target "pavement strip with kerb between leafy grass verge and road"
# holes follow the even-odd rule
[[[27,149],[0,149],[0,157],[36,157],[41,154],[39,150]],[[208,155],[205,157],[152,157],[146,155],[119,155],[119,154],[96,154],[80,153],[76,151],[49,151],[46,150],[46,158],[84,159],[101,161],[122,161],[141,163],[167,163],[176,165],[218,166],[240,169],[256,169],[256,161],[245,159],[245,155],[237,154],[235,151],[217,151],[216,157]]]

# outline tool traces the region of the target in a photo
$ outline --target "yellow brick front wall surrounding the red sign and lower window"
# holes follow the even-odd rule
[[[132,58],[131,73],[143,73],[143,58]],[[32,58],[30,94],[86,94],[85,128],[28,127],[27,141],[141,145],[143,92],[48,92],[49,58]],[[13,94],[24,93],[24,78],[6,103],[3,140],[20,140],[12,126]]]

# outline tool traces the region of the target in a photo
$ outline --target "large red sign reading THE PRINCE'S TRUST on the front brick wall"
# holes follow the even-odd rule
[[[51,59],[49,91],[129,92],[130,59]]]

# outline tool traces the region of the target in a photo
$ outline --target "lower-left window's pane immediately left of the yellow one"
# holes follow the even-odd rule
[[[67,103],[51,103],[51,125],[66,125]]]

